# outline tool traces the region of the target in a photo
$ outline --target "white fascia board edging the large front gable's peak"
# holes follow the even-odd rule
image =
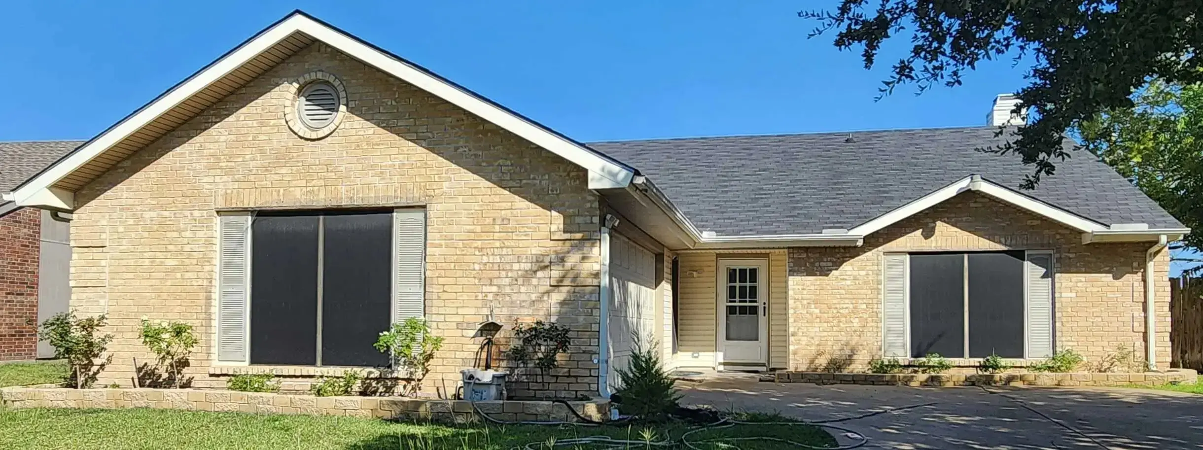
[[[247,61],[254,59],[260,53],[289,37],[294,32],[304,32],[319,41],[337,48],[368,65],[372,65],[386,73],[390,73],[407,83],[414,84],[423,90],[434,94],[448,102],[451,102],[466,111],[488,120],[502,129],[505,129],[534,144],[543,147],[589,172],[589,189],[626,188],[634,176],[634,171],[620,164],[615,164],[581,144],[574,143],[546,129],[543,129],[515,113],[505,111],[493,103],[460,89],[448,82],[431,76],[404,61],[393,58],[379,49],[372,48],[338,30],[321,24],[301,13],[272,25],[260,32],[256,37],[243,43],[230,52],[207,69],[192,76],[184,83],[172,88],[150,105],[124,119],[102,135],[89,141],[87,144],[73,152],[70,156],[51,166],[34,179],[25,183],[14,191],[17,199],[29,199],[35,193],[49,188],[75,170],[93,160],[113,144],[153,122],[155,118],[171,111],[180,102],[188,100],[213,82],[225,77],[233,70],[241,67]]]

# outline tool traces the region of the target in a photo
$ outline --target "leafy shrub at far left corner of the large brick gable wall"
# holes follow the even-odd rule
[[[91,385],[96,373],[108,363],[108,359],[97,363],[113,341],[113,334],[100,334],[105,320],[103,314],[79,319],[75,312],[59,313],[46,319],[37,332],[38,341],[49,341],[54,347],[54,357],[71,366],[76,389]]]

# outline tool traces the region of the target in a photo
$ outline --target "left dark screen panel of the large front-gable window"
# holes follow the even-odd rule
[[[318,217],[263,213],[251,232],[250,362],[314,365]]]

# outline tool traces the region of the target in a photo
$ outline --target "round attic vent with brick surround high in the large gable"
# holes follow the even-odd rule
[[[289,129],[307,140],[330,136],[346,116],[346,89],[333,75],[306,73],[291,83],[290,105],[284,108]]]

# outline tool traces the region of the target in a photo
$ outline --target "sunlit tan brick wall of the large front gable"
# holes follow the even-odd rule
[[[284,120],[289,83],[339,77],[349,114],[326,138]],[[129,385],[141,315],[202,336],[186,375],[211,378],[218,208],[425,206],[427,318],[446,338],[427,387],[455,389],[492,306],[514,325],[575,332],[565,374],[539,386],[597,391],[598,199],[574,164],[324,45],[301,51],[82,189],[72,224],[72,306],[117,336],[100,384]],[[509,328],[506,328],[509,330]],[[506,339],[499,339],[502,347]],[[583,371],[583,372],[581,372]],[[587,373],[583,375],[581,373]]]

